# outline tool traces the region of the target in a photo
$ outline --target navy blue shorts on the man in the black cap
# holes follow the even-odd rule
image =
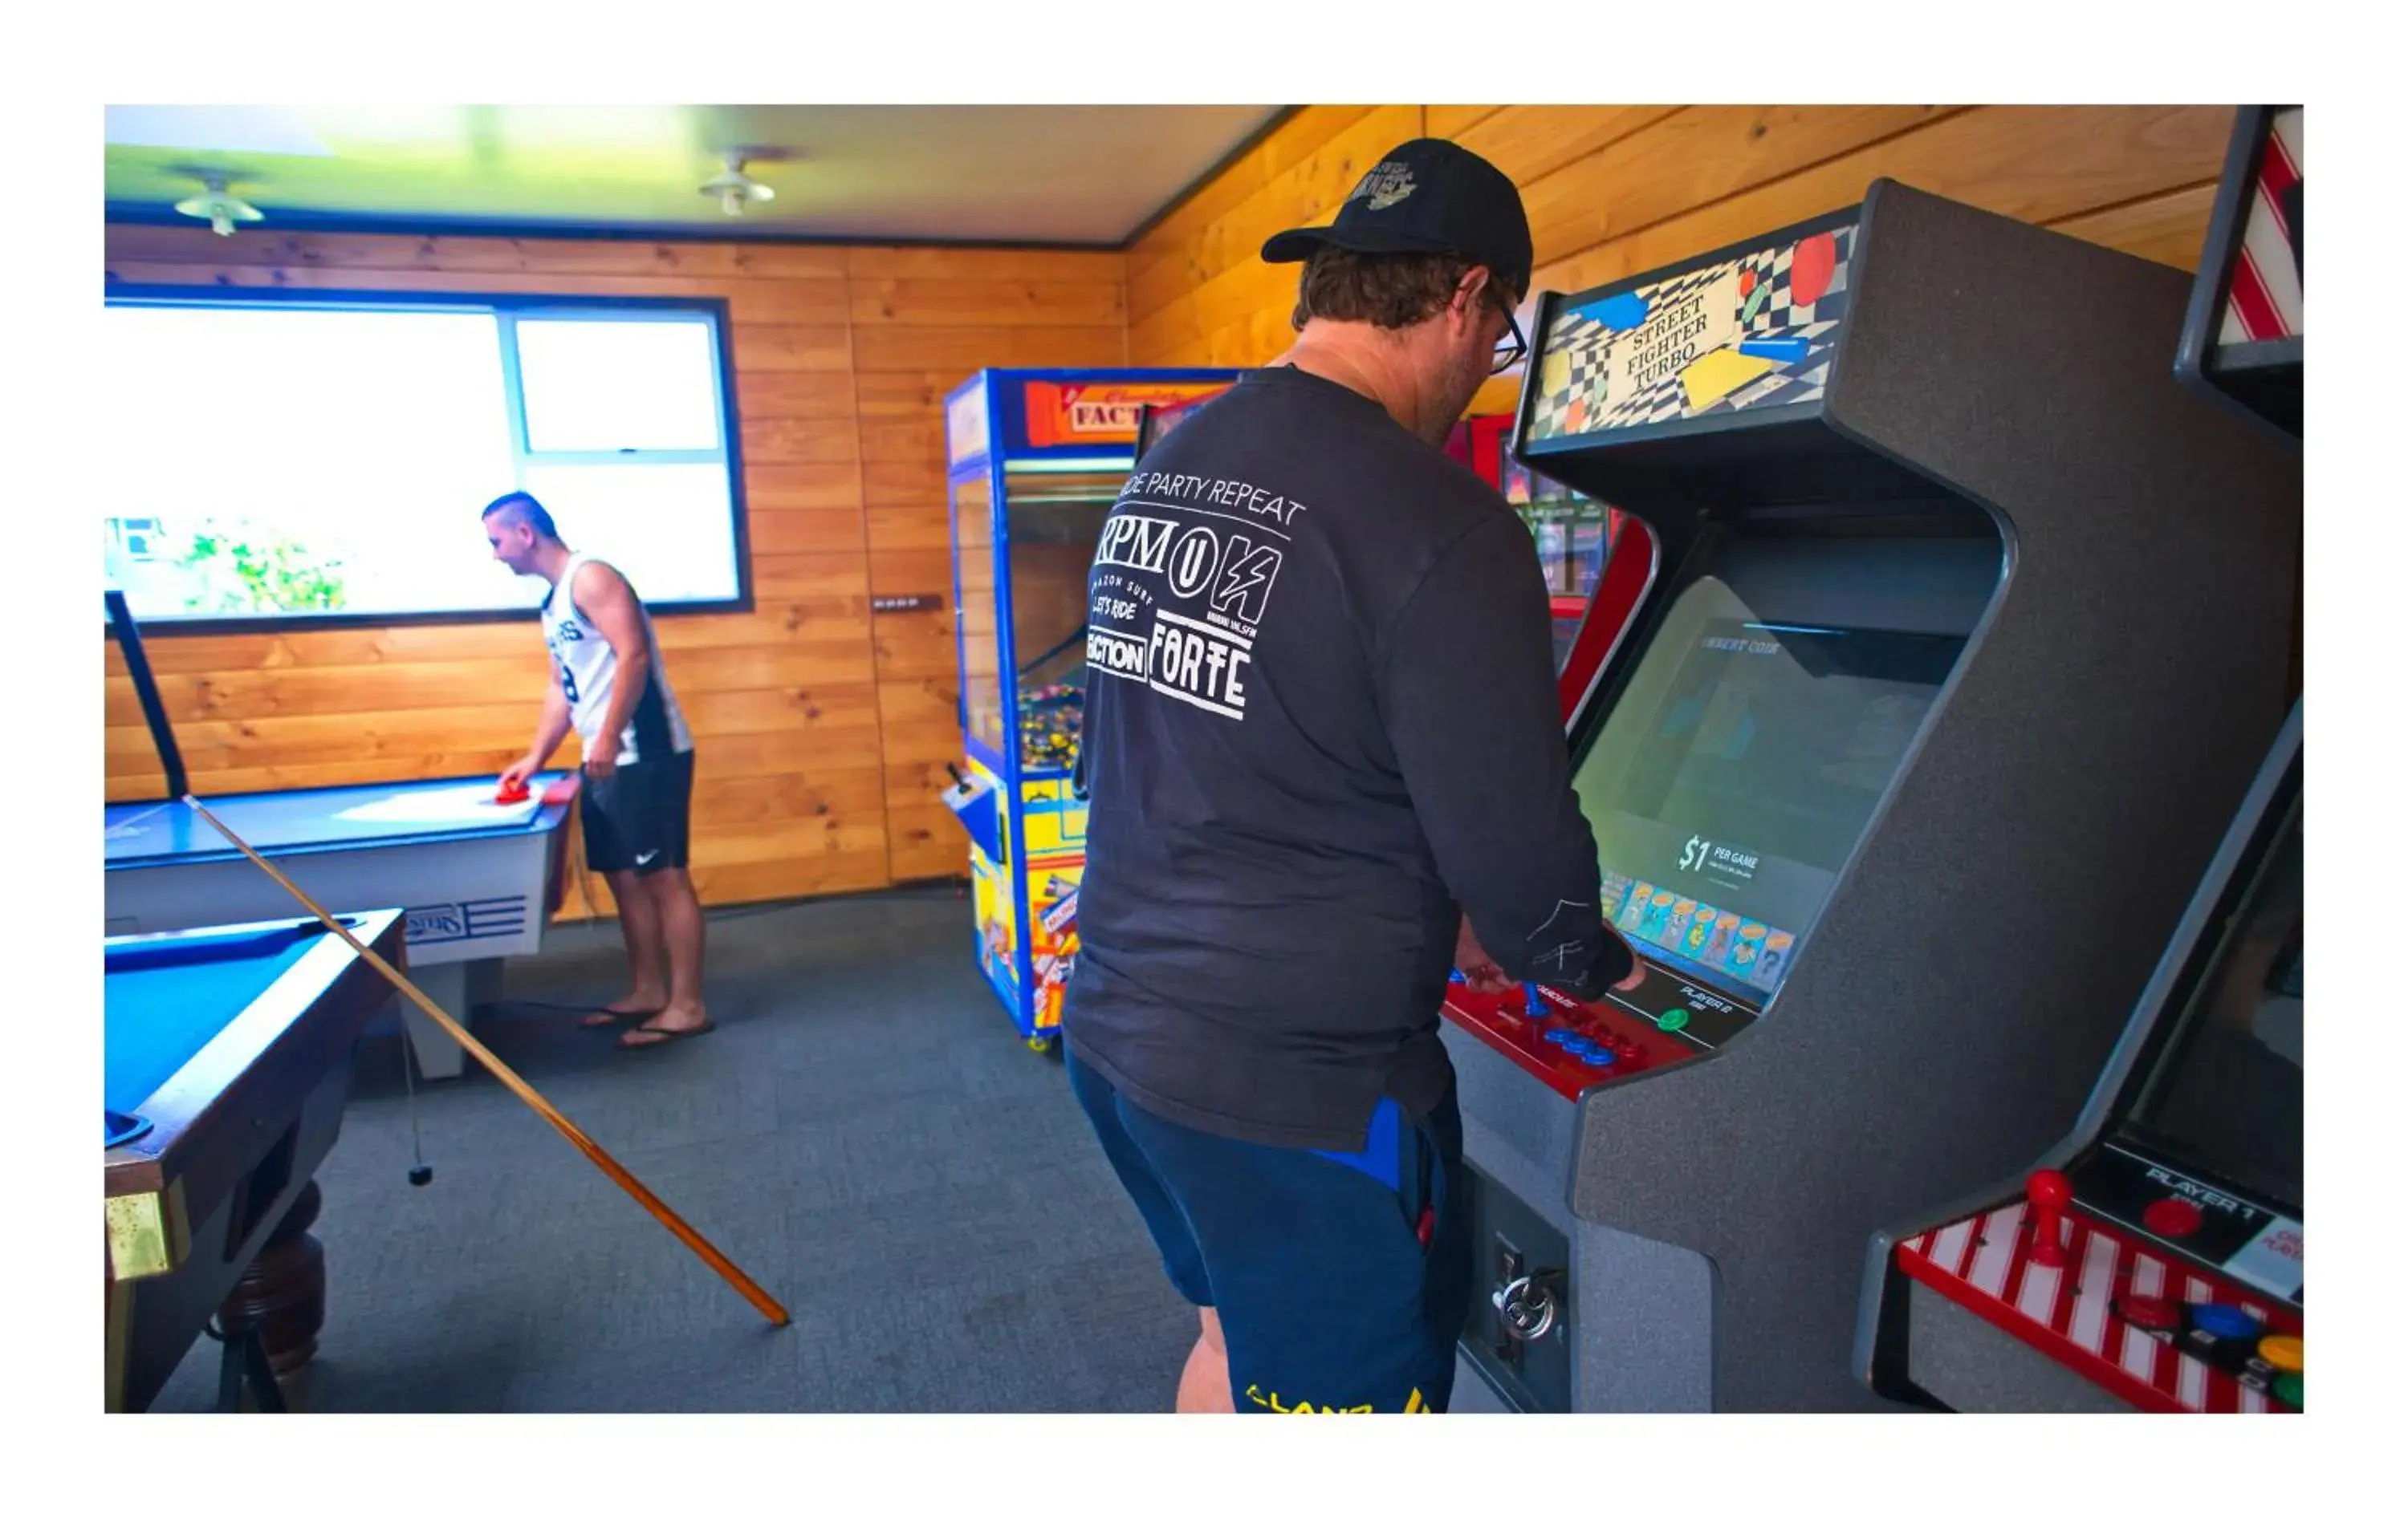
[[[1356,1152],[1163,1121],[1067,1056],[1069,1085],[1170,1285],[1221,1314],[1238,1412],[1445,1412],[1471,1309],[1454,1087],[1421,1121],[1382,1099]]]

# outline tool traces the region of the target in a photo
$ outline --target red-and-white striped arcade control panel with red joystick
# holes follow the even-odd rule
[[[2143,1412],[2300,1412],[2302,1261],[2300,1220],[2114,1143],[1893,1251],[1917,1287]]]

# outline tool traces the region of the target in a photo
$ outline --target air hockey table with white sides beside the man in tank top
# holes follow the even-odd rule
[[[568,868],[563,828],[576,772],[544,775],[527,801],[494,801],[496,779],[412,779],[313,791],[202,796],[226,828],[327,912],[402,907],[412,979],[462,1027],[501,991],[501,960],[544,945]],[[267,921],[301,909],[181,801],[104,811],[108,933]],[[429,1080],[462,1068],[431,1018],[402,1006]]]

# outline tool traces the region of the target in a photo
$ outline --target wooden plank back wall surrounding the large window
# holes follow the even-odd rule
[[[727,298],[756,609],[657,623],[701,751],[696,883],[725,905],[963,873],[937,801],[961,753],[944,395],[982,366],[1122,363],[1120,255],[111,226],[106,265],[137,284]],[[460,532],[477,505],[453,503]],[[872,594],[944,601],[872,621]],[[498,772],[544,688],[530,623],[149,654],[202,794]],[[159,794],[113,647],[106,753],[111,796]]]

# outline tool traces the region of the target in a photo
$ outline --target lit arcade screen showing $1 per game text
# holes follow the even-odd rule
[[[1681,592],[1572,775],[1611,921],[1767,1003],[1963,645],[1760,621],[1712,577]]]

